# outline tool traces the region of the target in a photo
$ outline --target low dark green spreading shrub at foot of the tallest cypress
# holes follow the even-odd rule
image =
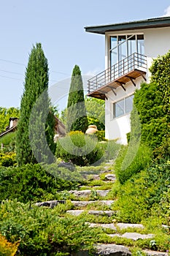
[[[49,165],[46,169],[39,164],[0,167],[0,201],[17,198],[26,203],[29,200],[47,200],[49,197],[54,200],[58,190],[72,189],[75,186],[76,182],[52,175],[59,172],[57,165]]]

